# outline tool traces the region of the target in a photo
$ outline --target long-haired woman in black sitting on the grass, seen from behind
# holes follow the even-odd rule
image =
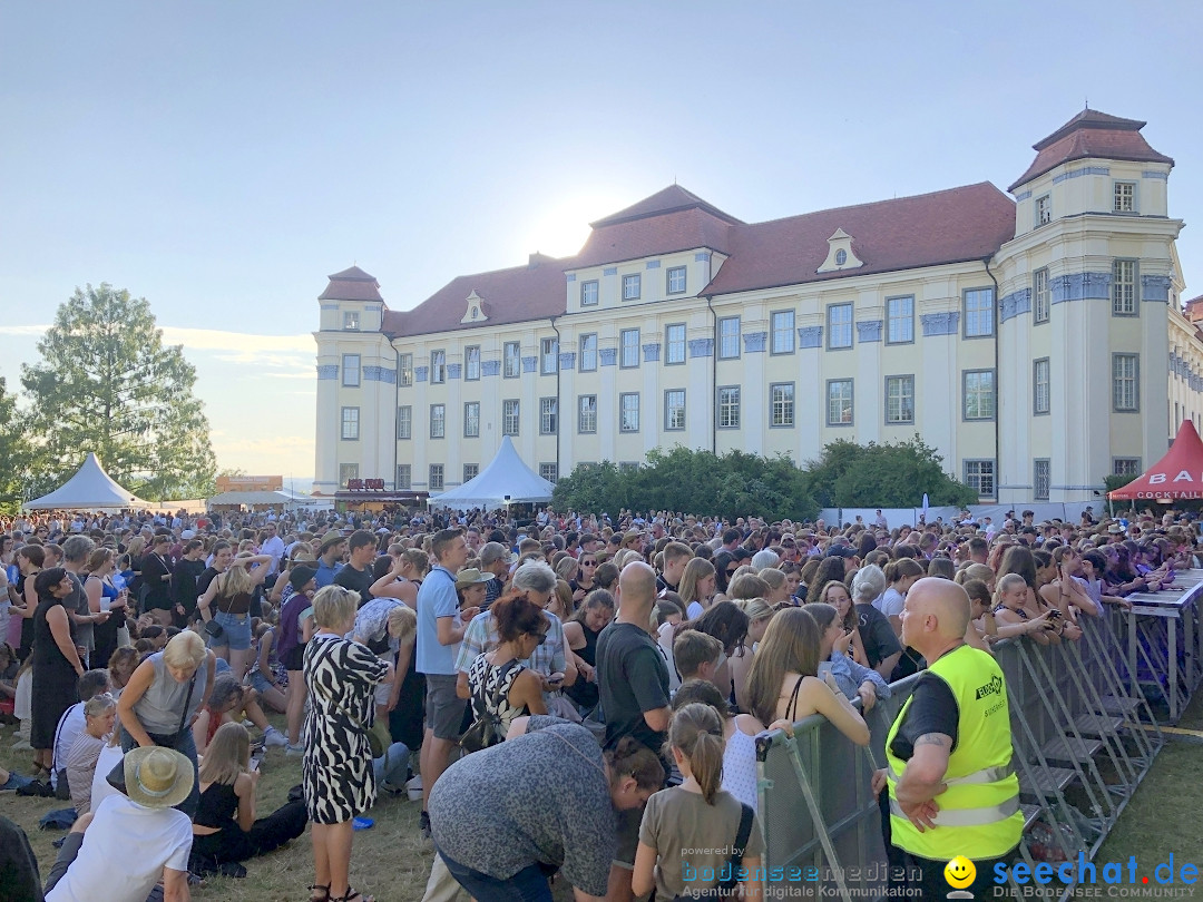
[[[192,818],[194,872],[245,877],[241,862],[277,849],[304,832],[301,800],[255,819],[259,762],[250,760],[250,736],[241,723],[218,728],[201,765],[201,803]]]

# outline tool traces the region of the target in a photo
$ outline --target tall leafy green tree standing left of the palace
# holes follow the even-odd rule
[[[196,370],[164,345],[146,298],[76,289],[22,367],[35,469],[61,479],[94,451],[108,474],[152,500],[195,498],[217,470]]]

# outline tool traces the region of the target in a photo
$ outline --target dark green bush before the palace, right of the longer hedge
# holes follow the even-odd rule
[[[807,464],[807,485],[823,508],[915,508],[977,504],[968,486],[944,471],[944,458],[918,433],[909,441],[858,445],[841,439]]]

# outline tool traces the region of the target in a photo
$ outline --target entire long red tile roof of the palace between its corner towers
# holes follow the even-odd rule
[[[853,249],[865,265],[820,275],[816,271],[836,229],[853,237]],[[413,310],[386,310],[383,331],[417,336],[550,319],[565,311],[565,271],[693,248],[730,255],[701,292],[719,295],[980,260],[1014,232],[1014,202],[985,182],[753,225],[672,185],[594,222],[576,256],[532,255],[527,266],[461,275]],[[488,319],[461,324],[473,291]]]

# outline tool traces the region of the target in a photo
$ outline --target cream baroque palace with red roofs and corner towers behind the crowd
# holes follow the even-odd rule
[[[408,311],[336,273],[314,491],[438,493],[505,435],[555,481],[677,444],[801,463],[919,433],[983,500],[1092,499],[1203,414],[1174,161],[1143,126],[1079,113],[1009,196],[983,182],[748,224],[672,185],[593,222],[576,256],[461,275]]]

